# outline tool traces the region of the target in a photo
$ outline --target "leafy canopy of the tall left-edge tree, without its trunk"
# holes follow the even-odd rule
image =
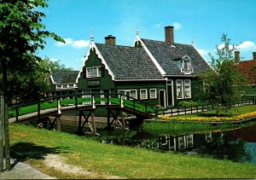
[[[44,49],[45,38],[65,43],[54,32],[45,30],[45,15],[38,9],[47,6],[47,0],[0,0],[0,69],[8,102],[24,93],[38,98],[42,88],[38,81],[46,70],[36,52]],[[31,93],[25,86],[30,87]]]

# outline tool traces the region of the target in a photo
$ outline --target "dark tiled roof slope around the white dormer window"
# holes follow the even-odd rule
[[[191,67],[194,74],[203,73],[210,68],[207,62],[201,57],[193,45],[189,44],[170,44],[163,41],[154,41],[142,38],[143,43],[149,49],[156,61],[166,72],[166,75],[183,75],[177,67],[177,59],[188,55],[191,58]]]

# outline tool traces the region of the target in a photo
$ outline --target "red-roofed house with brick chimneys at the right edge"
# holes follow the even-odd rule
[[[253,52],[253,60],[239,61],[239,51],[236,51],[235,59],[241,72],[247,77],[249,84],[256,87],[256,52]]]

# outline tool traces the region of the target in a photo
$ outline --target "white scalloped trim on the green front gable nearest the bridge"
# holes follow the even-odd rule
[[[107,62],[104,60],[102,54],[100,53],[99,49],[96,47],[96,44],[92,41],[91,44],[90,44],[90,49],[95,49],[96,50],[96,55],[99,56],[99,58],[102,59],[102,63],[105,65],[106,69],[108,70],[108,73],[110,74],[112,80],[114,80],[114,75],[113,75],[113,72],[110,70],[110,68],[108,67],[108,64]],[[81,67],[80,71],[79,71],[79,75],[78,77],[76,78],[76,83],[79,83],[79,78],[81,76],[81,73],[83,72],[83,67],[85,66],[85,61],[88,61],[88,57],[90,55],[90,49],[88,50],[87,52],[87,55],[85,55],[85,58],[84,58],[84,62],[83,62],[83,66]]]

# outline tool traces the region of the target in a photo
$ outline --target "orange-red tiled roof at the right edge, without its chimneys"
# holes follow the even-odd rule
[[[246,75],[250,84],[256,84],[256,60],[240,61],[238,67]]]

